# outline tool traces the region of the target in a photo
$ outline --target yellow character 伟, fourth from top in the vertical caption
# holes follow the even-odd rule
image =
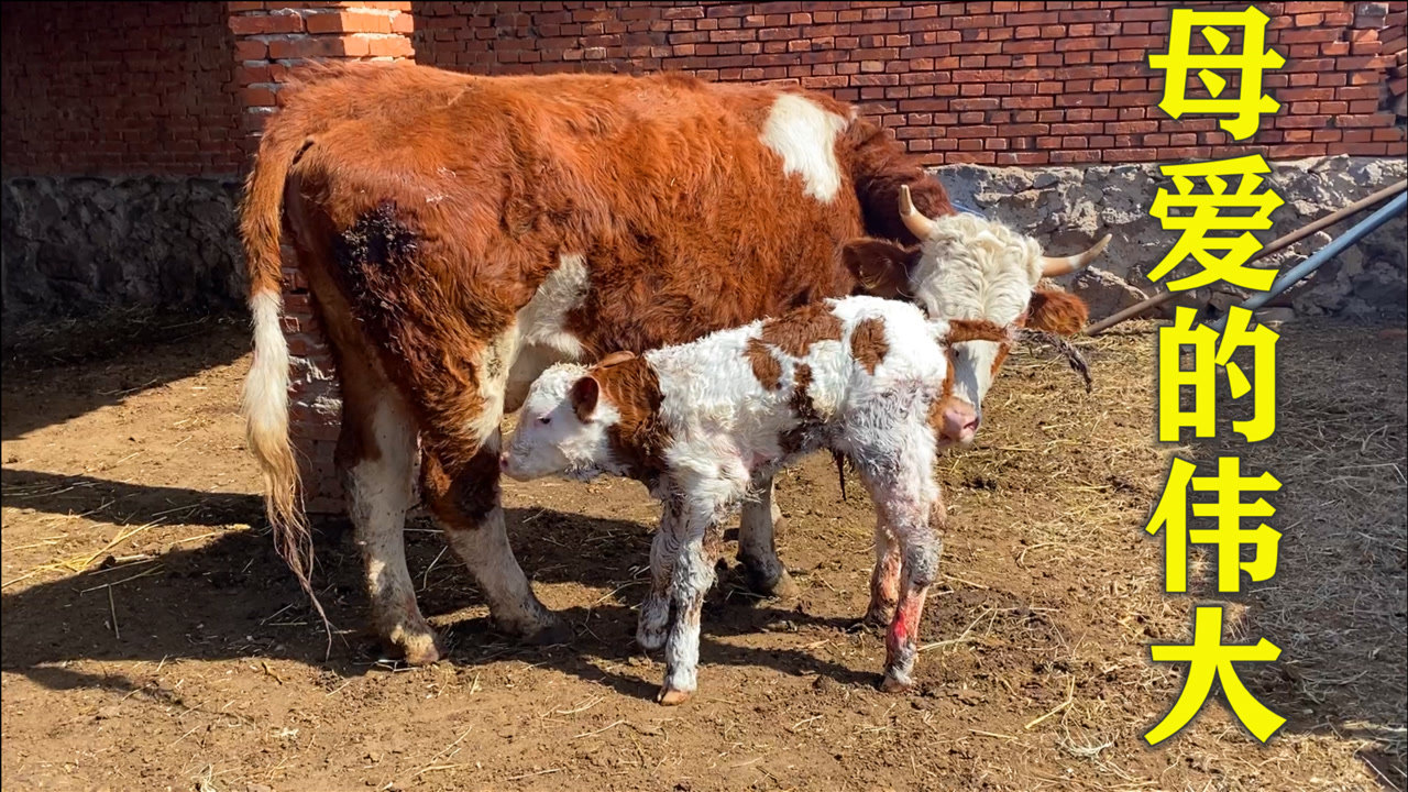
[[[1270,517],[1276,507],[1257,497],[1252,503],[1242,502],[1243,492],[1276,492],[1281,482],[1271,474],[1243,476],[1242,461],[1236,457],[1218,458],[1218,475],[1194,476],[1195,465],[1174,457],[1169,469],[1169,481],[1163,495],[1149,516],[1145,531],[1150,536],[1163,530],[1163,575],[1164,590],[1183,593],[1188,590],[1188,543],[1218,545],[1218,590],[1238,592],[1242,588],[1242,572],[1253,582],[1270,581],[1276,575],[1276,561],[1281,545],[1281,533],[1259,524],[1243,528],[1242,517]],[[1188,528],[1188,485],[1198,492],[1215,492],[1212,503],[1194,503],[1194,517],[1217,517],[1215,528]],[[1250,561],[1242,561],[1242,545],[1255,548]]]

